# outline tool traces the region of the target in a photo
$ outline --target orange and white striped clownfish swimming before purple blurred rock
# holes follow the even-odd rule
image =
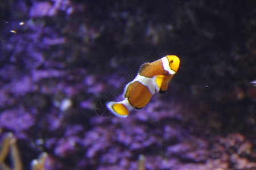
[[[122,101],[109,101],[106,107],[117,117],[125,118],[131,109],[143,108],[156,94],[164,94],[168,82],[177,73],[180,59],[177,56],[167,55],[154,62],[146,62],[139,68],[137,76],[125,86]]]

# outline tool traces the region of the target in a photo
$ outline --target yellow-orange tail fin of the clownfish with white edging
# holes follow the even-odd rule
[[[129,115],[129,111],[133,108],[127,98],[119,102],[109,101],[108,103],[106,103],[106,107],[115,116],[121,118],[127,117]]]

